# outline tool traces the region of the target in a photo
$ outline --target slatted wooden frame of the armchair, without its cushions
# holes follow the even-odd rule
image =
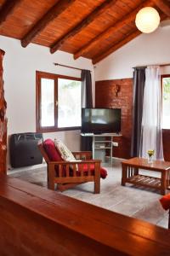
[[[57,189],[64,191],[81,183],[94,182],[94,193],[100,192],[101,161],[91,160],[91,152],[73,152],[80,161],[50,161],[42,142],[38,144],[38,148],[48,165],[48,189],[54,190],[57,184]]]

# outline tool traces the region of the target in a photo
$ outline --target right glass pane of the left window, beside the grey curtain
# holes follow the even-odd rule
[[[81,126],[82,82],[58,80],[58,127]]]

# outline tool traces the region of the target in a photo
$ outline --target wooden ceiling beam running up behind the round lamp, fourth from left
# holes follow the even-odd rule
[[[111,34],[119,31],[123,26],[135,20],[136,14],[139,12],[139,9],[145,6],[153,6],[154,3],[150,0],[145,1],[144,3],[140,4],[138,8],[134,9],[133,12],[126,15],[122,20],[118,20],[115,24],[111,24],[111,26],[106,29],[104,32],[100,33],[97,37],[93,38],[88,44],[84,45],[81,49],[78,49],[77,52],[74,54],[74,59],[76,60],[82,55],[88,53],[89,49],[97,47],[99,41],[105,40],[105,38],[109,38]]]

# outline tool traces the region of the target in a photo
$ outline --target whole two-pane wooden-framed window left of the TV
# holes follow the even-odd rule
[[[37,131],[81,126],[81,79],[37,71]]]

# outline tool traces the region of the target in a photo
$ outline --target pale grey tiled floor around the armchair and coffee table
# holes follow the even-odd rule
[[[111,211],[143,219],[152,224],[167,228],[168,215],[167,212],[161,208],[159,202],[161,195],[158,194],[156,190],[142,187],[137,188],[130,184],[122,187],[122,170],[120,161],[118,160],[114,160],[113,167],[107,167],[107,170],[108,177],[101,179],[101,193],[99,195],[93,194],[93,183],[79,185],[75,189],[69,189],[63,192],[63,194],[80,201],[86,201],[95,206],[104,207]],[[9,175],[19,177],[30,183],[47,186],[46,167],[31,171],[17,171],[19,172],[16,172],[16,170],[10,171]],[[146,171],[144,171],[144,173],[146,173]],[[155,173],[155,175],[157,175],[157,173]]]

